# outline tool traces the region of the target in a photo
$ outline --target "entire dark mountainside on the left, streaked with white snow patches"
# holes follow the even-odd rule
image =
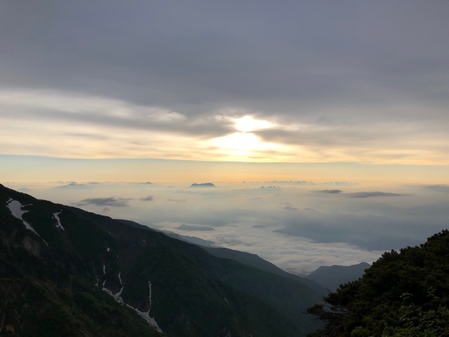
[[[157,329],[303,336],[314,329],[300,312],[319,295],[304,284],[2,185],[0,249],[0,329],[11,336],[156,336]]]

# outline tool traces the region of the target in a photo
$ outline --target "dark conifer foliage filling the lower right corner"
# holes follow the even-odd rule
[[[326,322],[310,337],[449,336],[449,231],[390,251],[363,277],[307,312]]]

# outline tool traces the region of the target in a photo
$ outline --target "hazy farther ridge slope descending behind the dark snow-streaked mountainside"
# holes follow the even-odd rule
[[[126,236],[129,235],[129,233],[127,234],[126,227],[121,226],[116,220],[79,209],[75,210],[80,214],[83,213],[84,216],[91,217],[96,223],[99,223],[105,228],[105,230],[119,235],[122,239],[129,240],[129,242],[135,242],[137,239],[137,237],[129,237],[126,239]],[[130,225],[138,227],[136,223]],[[311,329],[319,326],[317,322],[314,322],[304,312],[310,305],[314,305],[321,299],[323,292],[315,291],[307,284],[300,282],[300,277],[295,277],[295,275],[291,275],[291,278],[281,277],[272,272],[266,272],[250,265],[244,265],[236,260],[217,258],[207,253],[204,250],[205,247],[172,239],[165,234],[149,230],[148,228],[141,227],[140,229],[142,232],[138,234],[138,237],[144,236],[147,232],[151,234],[150,238],[145,239],[147,243],[149,242],[148,240],[154,240],[157,237],[158,239],[156,241],[152,241],[153,245],[169,246],[174,251],[182,252],[184,256],[192,259],[215,282],[227,284],[234,289],[243,291],[243,293],[248,293],[251,296],[264,300],[264,302],[272,305],[286,317],[293,319],[295,324],[300,327],[300,331],[311,331]],[[242,254],[245,255],[246,253]],[[264,262],[270,264],[267,261]],[[290,275],[286,272],[283,273]],[[307,282],[314,284],[311,281]],[[316,287],[320,290],[322,289],[319,285],[316,285]]]

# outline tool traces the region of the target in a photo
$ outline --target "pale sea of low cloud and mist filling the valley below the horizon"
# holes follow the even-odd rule
[[[439,185],[356,185],[333,193],[295,183],[261,189],[261,183],[266,182],[220,183],[215,192],[193,192],[186,183],[156,183],[151,195],[135,183],[50,189],[46,195],[36,194],[38,185],[20,187],[32,187],[35,197],[61,204],[73,204],[76,195],[81,200],[76,206],[88,211],[189,233],[215,246],[255,253],[291,272],[372,263],[383,251],[420,244],[448,227],[449,194]]]

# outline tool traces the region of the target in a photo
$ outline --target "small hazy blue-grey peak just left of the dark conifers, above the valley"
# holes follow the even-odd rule
[[[362,262],[357,265],[330,265],[322,266],[307,275],[307,279],[314,280],[330,291],[336,291],[341,284],[352,282],[362,277],[369,263]]]

